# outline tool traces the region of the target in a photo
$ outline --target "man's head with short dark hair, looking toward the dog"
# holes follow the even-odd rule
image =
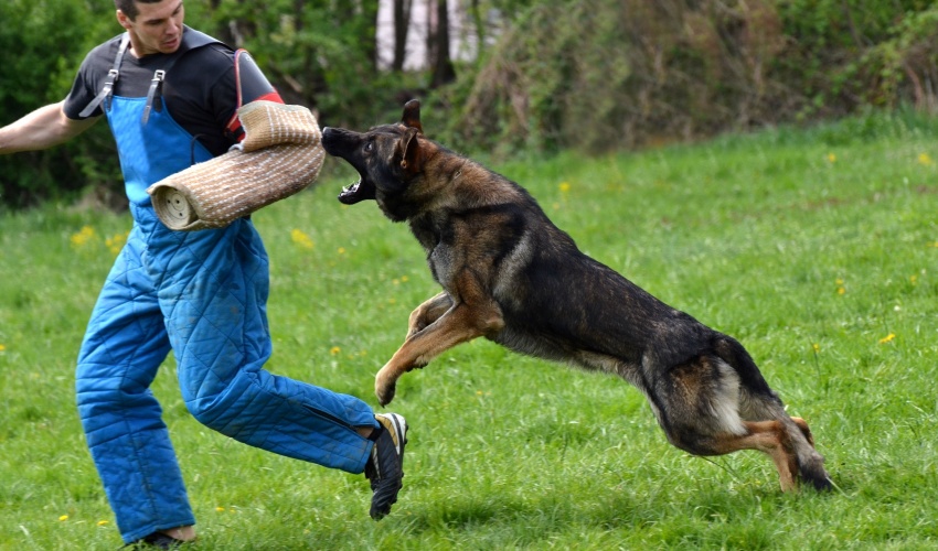
[[[134,55],[142,57],[157,53],[171,54],[179,50],[182,42],[182,18],[185,14],[182,0],[137,2],[137,9],[140,12],[134,21],[117,10],[117,21],[130,32]]]

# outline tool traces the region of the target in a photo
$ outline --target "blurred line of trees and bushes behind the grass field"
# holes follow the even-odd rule
[[[398,43],[408,30],[425,41],[423,69],[402,68],[403,46],[379,65],[379,0],[186,0],[185,22],[249,50],[323,126],[396,120],[419,97],[428,134],[467,153],[589,153],[938,110],[932,0],[424,0],[429,24],[407,18],[414,2],[386,0],[411,22],[394,25]],[[0,125],[64,98],[85,54],[121,31],[110,0],[3,0],[0,21]],[[479,54],[454,60],[455,37]],[[0,207],[122,205],[106,127],[0,156]]]

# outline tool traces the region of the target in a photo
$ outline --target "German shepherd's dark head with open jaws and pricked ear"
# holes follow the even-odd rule
[[[354,205],[376,199],[391,219],[407,216],[395,208],[404,199],[409,182],[423,171],[426,147],[420,145],[420,102],[407,101],[401,122],[382,125],[367,132],[344,128],[322,129],[322,147],[330,155],[344,159],[359,172],[359,181],[342,188],[339,201]],[[427,144],[425,144],[427,145]]]

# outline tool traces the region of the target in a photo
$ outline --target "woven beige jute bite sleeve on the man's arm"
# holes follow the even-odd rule
[[[326,151],[309,109],[252,101],[237,111],[244,140],[227,153],[147,188],[170,229],[220,228],[308,187]]]

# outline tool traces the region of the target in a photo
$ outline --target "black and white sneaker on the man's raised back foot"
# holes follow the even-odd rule
[[[381,520],[397,501],[404,486],[404,444],[407,443],[407,422],[397,413],[376,413],[380,428],[371,435],[374,446],[365,464],[365,476],[371,483],[371,510],[369,515]]]

